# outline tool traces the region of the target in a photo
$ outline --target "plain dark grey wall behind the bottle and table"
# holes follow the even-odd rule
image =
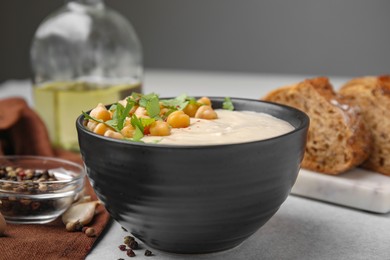
[[[0,82],[28,78],[35,29],[63,0],[0,1]],[[390,68],[390,1],[106,0],[146,68],[358,76]]]

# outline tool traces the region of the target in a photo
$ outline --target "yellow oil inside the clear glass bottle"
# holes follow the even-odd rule
[[[140,92],[141,83],[100,86],[87,82],[52,82],[34,87],[35,110],[54,146],[78,151],[76,118],[98,103],[111,104]]]

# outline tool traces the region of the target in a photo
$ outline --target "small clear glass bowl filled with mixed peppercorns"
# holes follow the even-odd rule
[[[9,223],[55,220],[84,188],[80,165],[42,156],[0,157],[0,212]]]

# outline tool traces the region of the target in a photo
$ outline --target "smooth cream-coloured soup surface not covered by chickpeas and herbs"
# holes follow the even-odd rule
[[[144,136],[142,140],[173,145],[228,144],[263,140],[294,130],[286,121],[265,113],[223,109],[215,112],[217,119],[191,118],[188,127],[173,128],[169,136]]]

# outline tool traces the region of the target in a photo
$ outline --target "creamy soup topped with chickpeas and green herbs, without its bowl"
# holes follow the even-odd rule
[[[230,98],[223,109],[211,100],[186,95],[160,100],[158,95],[133,93],[107,109],[98,104],[84,113],[86,127],[99,135],[167,145],[231,144],[276,137],[294,130],[269,114],[234,111]]]

